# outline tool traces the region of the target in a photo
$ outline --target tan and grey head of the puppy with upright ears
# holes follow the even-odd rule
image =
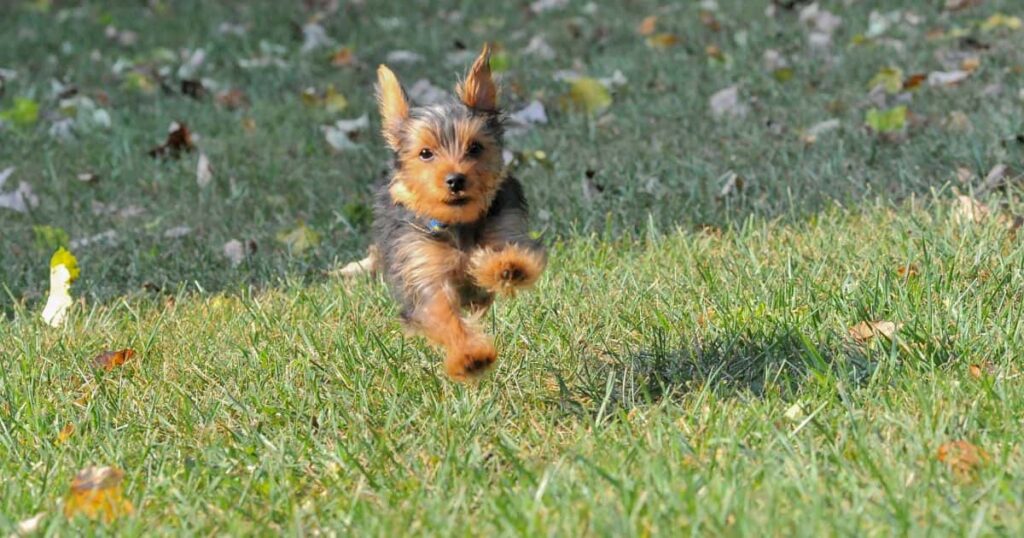
[[[394,73],[377,70],[384,140],[397,158],[390,185],[395,202],[445,223],[473,222],[486,213],[504,179],[489,59],[484,45],[456,86],[457,98],[428,107],[411,107]]]

